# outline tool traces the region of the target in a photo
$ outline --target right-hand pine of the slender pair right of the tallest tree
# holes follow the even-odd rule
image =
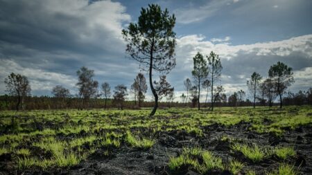
[[[208,60],[208,71],[210,73],[210,81],[211,81],[211,111],[214,111],[214,83],[219,80],[221,77],[222,65],[219,58],[219,55],[216,55],[213,51],[211,51]]]

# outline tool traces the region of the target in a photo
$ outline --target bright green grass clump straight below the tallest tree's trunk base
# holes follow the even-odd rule
[[[153,145],[155,144],[155,140],[149,140],[147,138],[139,140],[135,138],[134,136],[132,136],[132,133],[130,131],[127,131],[125,133],[125,141],[128,142],[128,144],[131,145],[132,147],[143,149],[153,147]]]

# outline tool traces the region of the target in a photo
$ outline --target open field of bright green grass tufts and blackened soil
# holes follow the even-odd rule
[[[311,106],[149,113],[1,111],[0,174],[312,172]]]

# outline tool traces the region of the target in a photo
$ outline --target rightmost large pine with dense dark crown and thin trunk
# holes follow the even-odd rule
[[[293,82],[293,68],[288,67],[286,64],[282,62],[277,62],[277,64],[273,64],[270,66],[269,77],[275,84],[275,89],[277,95],[279,95],[279,107],[282,106],[281,95],[283,95],[288,88],[291,86]]]

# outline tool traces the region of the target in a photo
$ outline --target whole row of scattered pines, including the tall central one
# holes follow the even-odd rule
[[[148,8],[141,9],[141,15],[137,23],[130,23],[128,28],[122,30],[123,38],[127,42],[126,53],[140,64],[141,71],[147,71],[149,77],[150,90],[154,96],[154,107],[150,116],[155,114],[158,107],[158,101],[162,97],[166,97],[170,102],[174,98],[174,88],[166,81],[166,75],[175,67],[175,15],[169,15],[168,10],[161,10],[160,6],[152,4]],[[182,103],[187,104],[191,99],[193,106],[197,104],[200,109],[200,91],[207,91],[205,107],[207,107],[208,93],[211,93],[211,110],[214,110],[216,102],[227,102],[227,96],[224,93],[223,86],[216,86],[220,80],[222,71],[220,58],[216,53],[212,52],[205,57],[201,53],[197,53],[193,57],[193,86],[189,78],[184,81],[187,94],[182,94]],[[158,81],[153,81],[153,71],[162,74]],[[293,84],[292,69],[284,63],[277,62],[270,67],[269,76],[262,81],[259,73],[253,73],[248,81],[248,89],[252,93],[253,106],[256,101],[266,102],[272,106],[275,98],[279,96],[280,107],[282,106],[282,95],[288,86]],[[90,107],[90,100],[99,97],[105,98],[106,108],[107,100],[110,99],[110,84],[103,82],[101,84],[101,92],[98,91],[98,82],[93,79],[94,71],[86,67],[77,71],[78,75],[78,97],[82,99],[81,107]],[[30,95],[31,86],[26,77],[11,73],[6,79],[7,90],[10,95],[17,96],[17,110],[19,105],[23,106],[24,98]],[[131,85],[130,92],[135,97],[135,104],[141,107],[144,101],[147,84],[143,74],[139,73],[135,78],[135,82]],[[52,90],[56,98],[62,100],[70,97],[68,89],[62,86],[55,86]],[[116,106],[123,108],[125,96],[128,95],[127,87],[119,84],[114,88],[113,102]],[[229,96],[229,101],[242,102],[245,92],[239,91]],[[170,103],[169,103],[170,104]]]

